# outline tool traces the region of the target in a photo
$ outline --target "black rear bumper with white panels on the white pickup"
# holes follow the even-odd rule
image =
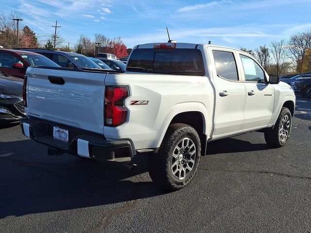
[[[48,146],[50,154],[69,153],[102,161],[125,163],[130,162],[134,157],[131,144],[126,140],[108,141],[101,134],[34,117],[20,119],[20,126],[25,136]],[[68,142],[54,139],[53,127],[55,126],[68,130]]]

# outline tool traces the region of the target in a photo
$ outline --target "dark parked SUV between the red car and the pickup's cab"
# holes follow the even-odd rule
[[[61,67],[69,68],[89,68],[89,69],[101,69],[96,63],[92,62],[88,57],[74,53],[57,50],[44,50],[44,49],[22,49],[42,54],[47,58],[50,58],[53,62],[57,63]]]

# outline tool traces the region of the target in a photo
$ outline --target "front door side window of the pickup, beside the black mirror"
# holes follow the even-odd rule
[[[264,83],[264,72],[259,65],[250,57],[240,54],[244,70],[245,81]]]

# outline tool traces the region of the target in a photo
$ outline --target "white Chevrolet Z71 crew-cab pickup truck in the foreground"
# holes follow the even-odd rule
[[[209,141],[260,131],[284,146],[295,96],[246,52],[154,43],[136,46],[125,72],[29,67],[24,105],[23,133],[49,154],[129,163],[147,153],[152,180],[177,190]]]

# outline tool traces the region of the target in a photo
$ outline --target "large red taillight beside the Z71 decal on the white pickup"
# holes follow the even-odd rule
[[[127,110],[123,100],[128,97],[126,86],[106,86],[104,100],[105,125],[118,126],[125,122]]]

